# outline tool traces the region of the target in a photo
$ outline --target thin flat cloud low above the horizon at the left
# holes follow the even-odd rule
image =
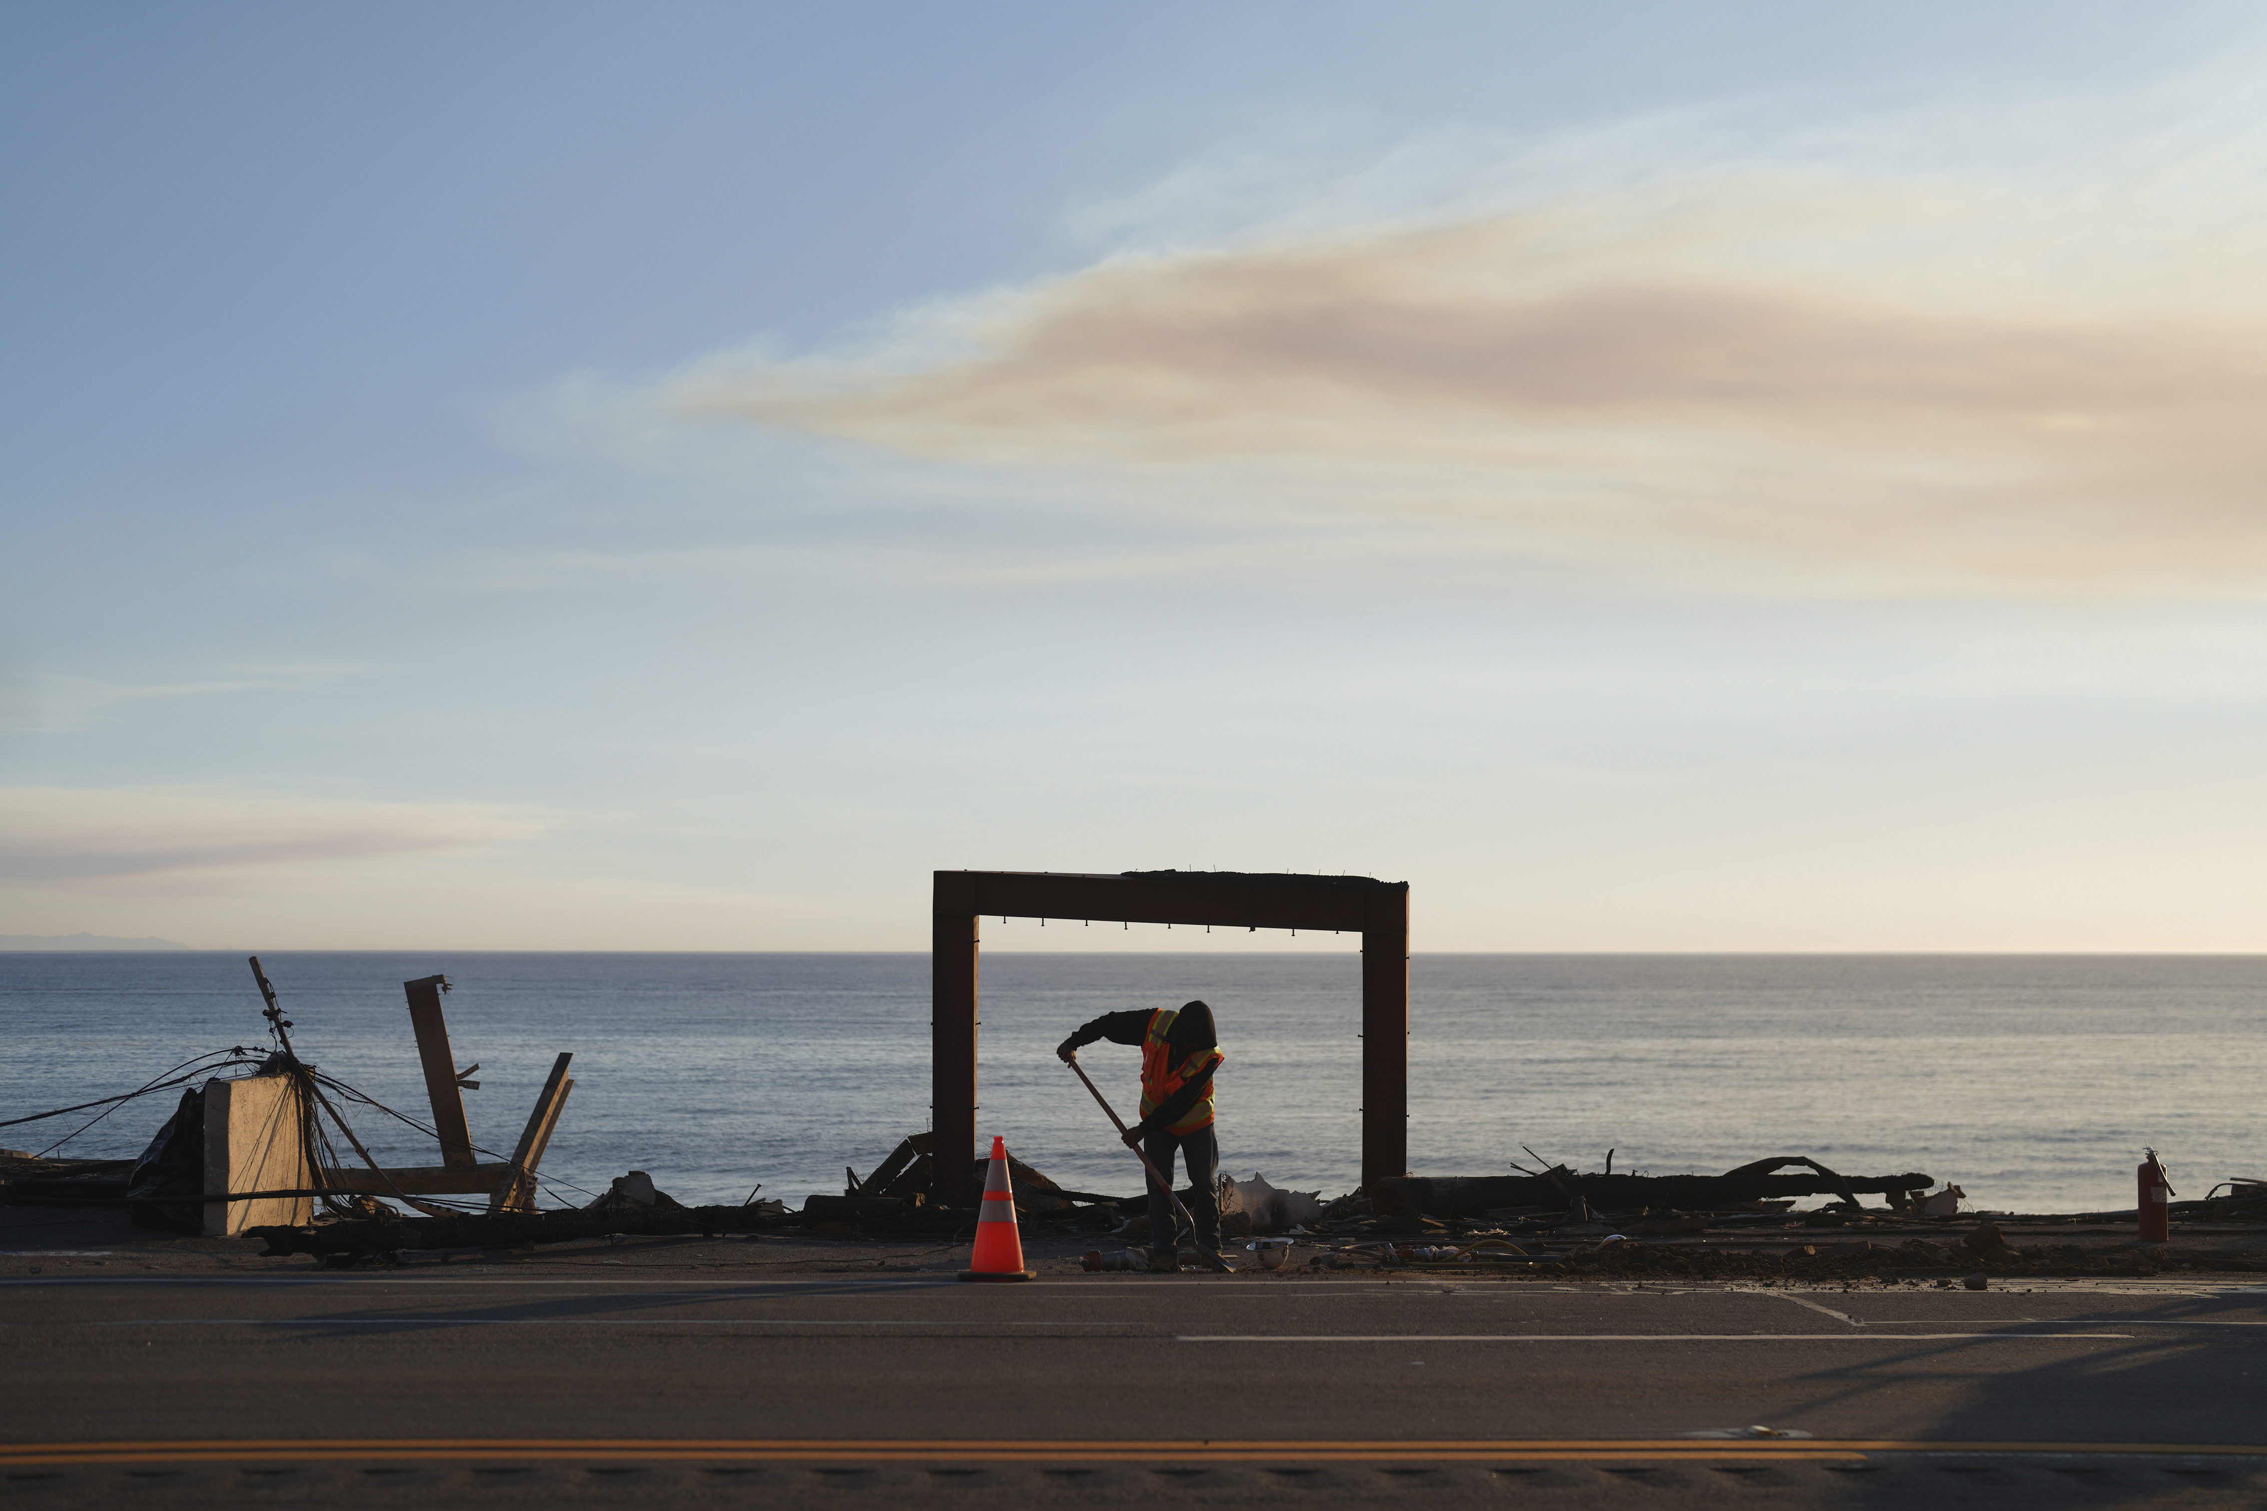
[[[363,802],[238,788],[0,788],[0,881],[220,874],[474,850],[537,834],[469,802]]]

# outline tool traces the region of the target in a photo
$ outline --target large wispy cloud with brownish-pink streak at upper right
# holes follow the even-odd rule
[[[1646,174],[1614,172],[1628,134],[1587,159],[1553,143],[1535,150],[1548,172],[1496,174],[1492,208],[1467,183],[1365,222],[1362,193],[1340,193],[1313,224],[1104,256],[855,351],[721,353],[662,396],[1460,548],[1857,587],[2256,591],[2251,84],[1963,104]],[[2018,147],[1963,159],[1979,138]]]

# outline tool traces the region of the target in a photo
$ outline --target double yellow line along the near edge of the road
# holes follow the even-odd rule
[[[73,1463],[1535,1463],[1850,1461],[1863,1454],[2258,1457],[2242,1443],[1934,1443],[1907,1439],[1068,1441],[1068,1439],[261,1439],[7,1443],[0,1468]]]

